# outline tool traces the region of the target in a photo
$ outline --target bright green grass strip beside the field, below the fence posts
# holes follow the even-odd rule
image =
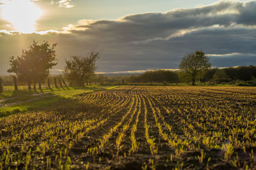
[[[110,90],[116,87],[120,87],[120,86],[104,86],[104,87],[88,86],[88,87],[68,87],[68,88],[64,87],[64,88],[58,88],[58,89],[45,88],[45,89],[42,89],[42,92],[41,91],[36,91],[36,92],[20,91],[20,92],[17,92],[15,96],[10,96],[15,98],[8,99],[8,97],[7,98],[5,97],[7,101],[4,101],[4,103],[2,104],[12,104],[12,103],[17,103],[22,101],[24,101],[24,103],[14,104],[12,106],[6,106],[6,107],[0,108],[0,117],[6,117],[8,115],[15,114],[15,113],[35,110],[37,108],[47,106],[51,103],[56,103],[60,100],[74,97],[77,94],[95,92],[99,90]],[[44,94],[44,95],[31,96],[32,94]],[[36,100],[32,101],[33,99],[36,99]]]

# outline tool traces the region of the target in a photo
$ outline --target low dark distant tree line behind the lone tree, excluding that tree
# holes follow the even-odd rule
[[[243,70],[243,72],[241,72]],[[166,76],[166,73],[172,76]],[[96,83],[104,84],[168,84],[168,83],[186,83],[192,85],[192,78],[185,71],[146,71],[143,74],[115,74],[95,76]],[[198,74],[195,79],[195,84],[220,84],[230,83],[239,84],[247,82],[248,85],[253,85],[256,82],[256,66],[239,66],[227,68],[209,68],[204,70],[204,73]],[[246,84],[244,84],[246,85]]]

